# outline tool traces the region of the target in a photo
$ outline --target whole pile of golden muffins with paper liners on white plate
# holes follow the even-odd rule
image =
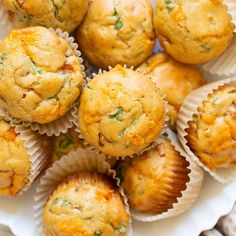
[[[0,195],[48,168],[35,196],[45,236],[130,235],[131,216],[188,210],[200,166],[235,176],[236,80],[206,85],[197,65],[230,47],[222,1],[159,0],[154,14],[149,0],[3,7],[14,29],[0,43]]]

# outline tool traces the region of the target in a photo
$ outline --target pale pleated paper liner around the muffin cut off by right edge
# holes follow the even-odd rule
[[[177,131],[180,143],[184,147],[187,154],[196,163],[201,166],[206,172],[208,172],[215,180],[220,183],[227,183],[231,181],[236,176],[236,168],[219,168],[215,172],[211,171],[207,166],[205,166],[200,159],[192,152],[190,147],[187,145],[186,140],[187,132],[186,129],[189,127],[188,122],[192,121],[193,114],[198,113],[198,107],[202,106],[203,101],[206,101],[208,95],[213,92],[213,90],[219,88],[222,85],[233,84],[236,85],[236,77],[232,77],[225,80],[220,80],[214,83],[207,84],[197,90],[191,92],[184,100],[177,120]]]

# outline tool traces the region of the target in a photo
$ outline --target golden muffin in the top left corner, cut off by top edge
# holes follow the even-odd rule
[[[16,26],[42,25],[72,32],[82,21],[88,0],[3,0],[3,6]]]

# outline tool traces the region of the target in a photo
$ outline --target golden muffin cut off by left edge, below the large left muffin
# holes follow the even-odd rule
[[[16,195],[27,184],[29,174],[30,157],[24,142],[0,118],[0,196]]]

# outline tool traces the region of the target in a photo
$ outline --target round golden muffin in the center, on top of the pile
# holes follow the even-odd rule
[[[148,77],[118,65],[84,88],[78,121],[87,142],[109,156],[125,157],[158,138],[165,107]]]

